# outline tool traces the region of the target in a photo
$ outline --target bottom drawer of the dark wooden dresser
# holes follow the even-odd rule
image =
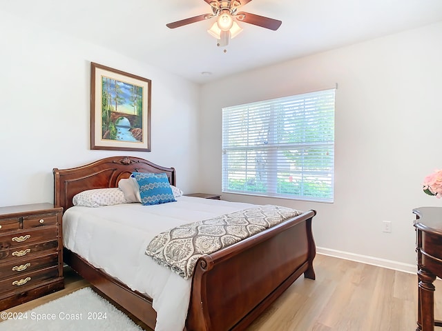
[[[0,281],[0,293],[21,291],[32,285],[36,285],[45,279],[58,277],[58,267],[50,267],[43,270],[36,270],[34,272],[27,272],[16,277],[10,277]]]

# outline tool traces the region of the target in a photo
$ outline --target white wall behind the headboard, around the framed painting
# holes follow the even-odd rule
[[[53,201],[52,168],[133,155],[195,191],[200,87],[0,12],[0,206]],[[152,152],[90,150],[90,62],[152,81]]]

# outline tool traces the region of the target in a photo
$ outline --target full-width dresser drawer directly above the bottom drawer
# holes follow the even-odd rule
[[[10,263],[1,264],[0,279],[6,279],[9,277],[20,277],[21,274],[27,274],[28,272],[53,267],[58,265],[58,254],[53,253],[44,257],[21,259],[12,261]]]

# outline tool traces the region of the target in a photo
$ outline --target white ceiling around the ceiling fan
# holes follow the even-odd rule
[[[203,0],[15,0],[0,10],[197,83],[442,21],[442,0],[253,0],[240,11],[282,26],[240,23],[224,53],[206,32],[214,19],[166,28],[211,12]]]

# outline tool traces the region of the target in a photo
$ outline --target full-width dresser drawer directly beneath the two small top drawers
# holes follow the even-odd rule
[[[57,227],[44,227],[39,230],[29,230],[20,232],[11,232],[0,236],[0,251],[8,250],[9,248],[35,243],[37,241],[45,241],[57,238]]]

